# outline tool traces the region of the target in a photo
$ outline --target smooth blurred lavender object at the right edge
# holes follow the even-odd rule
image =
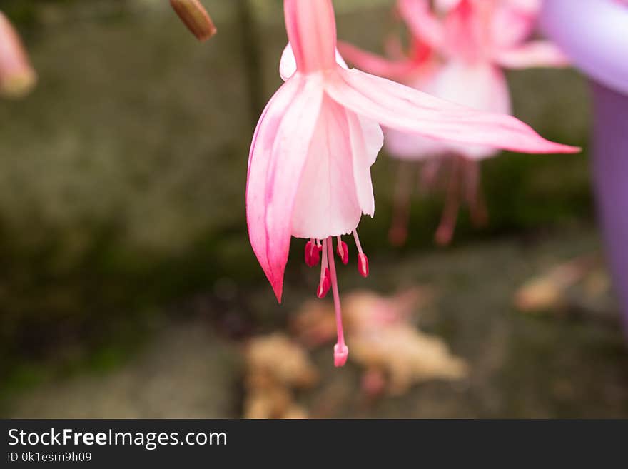
[[[628,329],[628,0],[545,0],[542,27],[592,80],[594,181]]]

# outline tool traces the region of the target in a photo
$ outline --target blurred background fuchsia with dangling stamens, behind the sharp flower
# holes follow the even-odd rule
[[[535,26],[540,0],[437,0],[435,11],[426,0],[399,0],[397,10],[410,29],[411,44],[432,50],[424,61],[405,74],[397,74],[403,61],[377,66],[377,56],[340,44],[350,62],[367,71],[385,74],[403,84],[442,99],[482,111],[511,114],[510,91],[503,69],[564,66],[567,59],[548,41],[527,41]],[[440,13],[440,15],[439,15]],[[418,73],[418,75],[417,75]],[[487,211],[480,193],[479,162],[499,152],[490,146],[435,142],[416,134],[385,128],[386,149],[403,161],[422,161],[422,182],[446,193],[445,210],[436,241],[449,243],[462,200],[472,220],[482,224]],[[390,230],[393,243],[407,237],[410,180],[407,168],[395,195]],[[438,184],[439,179],[443,179]]]

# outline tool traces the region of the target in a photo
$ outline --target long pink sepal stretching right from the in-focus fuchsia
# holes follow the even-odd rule
[[[579,151],[545,140],[512,116],[474,111],[355,69],[338,68],[328,74],[325,91],[338,103],[382,126],[437,140],[525,153]]]

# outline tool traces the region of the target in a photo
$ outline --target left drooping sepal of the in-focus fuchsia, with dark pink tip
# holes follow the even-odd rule
[[[248,161],[250,243],[278,301],[290,249],[294,198],[323,100],[323,88],[315,78],[295,76],[270,99],[255,130]]]

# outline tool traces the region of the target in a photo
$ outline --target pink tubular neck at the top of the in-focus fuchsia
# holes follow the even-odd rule
[[[331,0],[284,0],[285,28],[303,73],[335,67],[336,23]]]

